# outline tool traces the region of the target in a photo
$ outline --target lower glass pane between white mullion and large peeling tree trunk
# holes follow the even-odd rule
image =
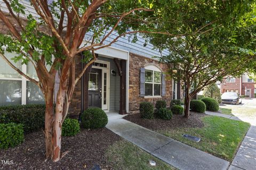
[[[27,81],[27,104],[45,104],[43,92],[31,81]]]

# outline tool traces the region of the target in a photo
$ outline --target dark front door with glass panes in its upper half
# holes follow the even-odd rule
[[[89,72],[88,106],[101,108],[101,69]]]

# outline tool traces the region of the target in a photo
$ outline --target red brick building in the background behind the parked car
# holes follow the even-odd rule
[[[221,83],[220,91],[222,94],[223,92],[237,92],[239,95],[254,98],[256,83],[245,73],[239,78],[224,80]]]

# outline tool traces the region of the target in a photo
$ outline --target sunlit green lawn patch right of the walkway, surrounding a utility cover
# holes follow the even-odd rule
[[[250,124],[217,116],[205,116],[202,121],[203,128],[169,129],[159,133],[217,157],[233,160]],[[181,137],[185,133],[201,137],[201,141],[196,143]]]

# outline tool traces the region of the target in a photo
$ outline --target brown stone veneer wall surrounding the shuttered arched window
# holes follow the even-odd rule
[[[149,101],[155,105],[157,100],[166,100],[167,106],[172,99],[172,80],[165,78],[166,95],[157,98],[140,97],[140,68],[148,65],[157,66],[162,72],[166,72],[168,66],[156,60],[130,53],[129,63],[129,112],[139,111],[142,101]]]

